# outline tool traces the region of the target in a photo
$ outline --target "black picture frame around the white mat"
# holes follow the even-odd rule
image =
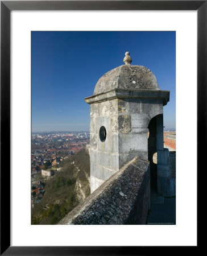
[[[197,10],[198,173],[199,169],[203,169],[203,167],[201,169],[202,160],[206,156],[206,147],[203,149],[202,145],[206,145],[207,120],[205,101],[207,98],[207,1],[1,1],[1,255],[146,255],[156,251],[159,246],[10,246],[10,182],[8,181],[10,181],[11,142],[10,12],[12,10]],[[199,195],[197,198],[200,198]],[[159,247],[159,249],[160,253],[165,253],[169,247]],[[192,246],[191,251],[195,249],[197,250],[198,246]],[[176,246],[170,249],[172,253],[175,250]],[[180,253],[183,251],[180,247],[179,250]]]

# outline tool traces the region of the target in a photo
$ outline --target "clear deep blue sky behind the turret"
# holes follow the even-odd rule
[[[175,42],[173,31],[32,31],[32,132],[89,131],[84,98],[102,75],[124,64],[126,51],[132,65],[149,68],[160,89],[170,90],[164,126],[175,128]]]

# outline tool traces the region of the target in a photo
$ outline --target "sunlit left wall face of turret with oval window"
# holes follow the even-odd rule
[[[118,100],[90,105],[90,189],[93,192],[119,170]],[[105,142],[100,141],[100,128],[106,129]]]

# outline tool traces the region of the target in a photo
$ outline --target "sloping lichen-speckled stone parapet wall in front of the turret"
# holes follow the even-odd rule
[[[134,158],[115,172],[59,225],[146,224],[150,205],[150,164]]]

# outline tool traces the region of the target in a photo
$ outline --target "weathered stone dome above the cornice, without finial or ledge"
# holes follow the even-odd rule
[[[140,65],[121,65],[105,73],[97,82],[94,95],[113,89],[160,90],[154,73]]]

